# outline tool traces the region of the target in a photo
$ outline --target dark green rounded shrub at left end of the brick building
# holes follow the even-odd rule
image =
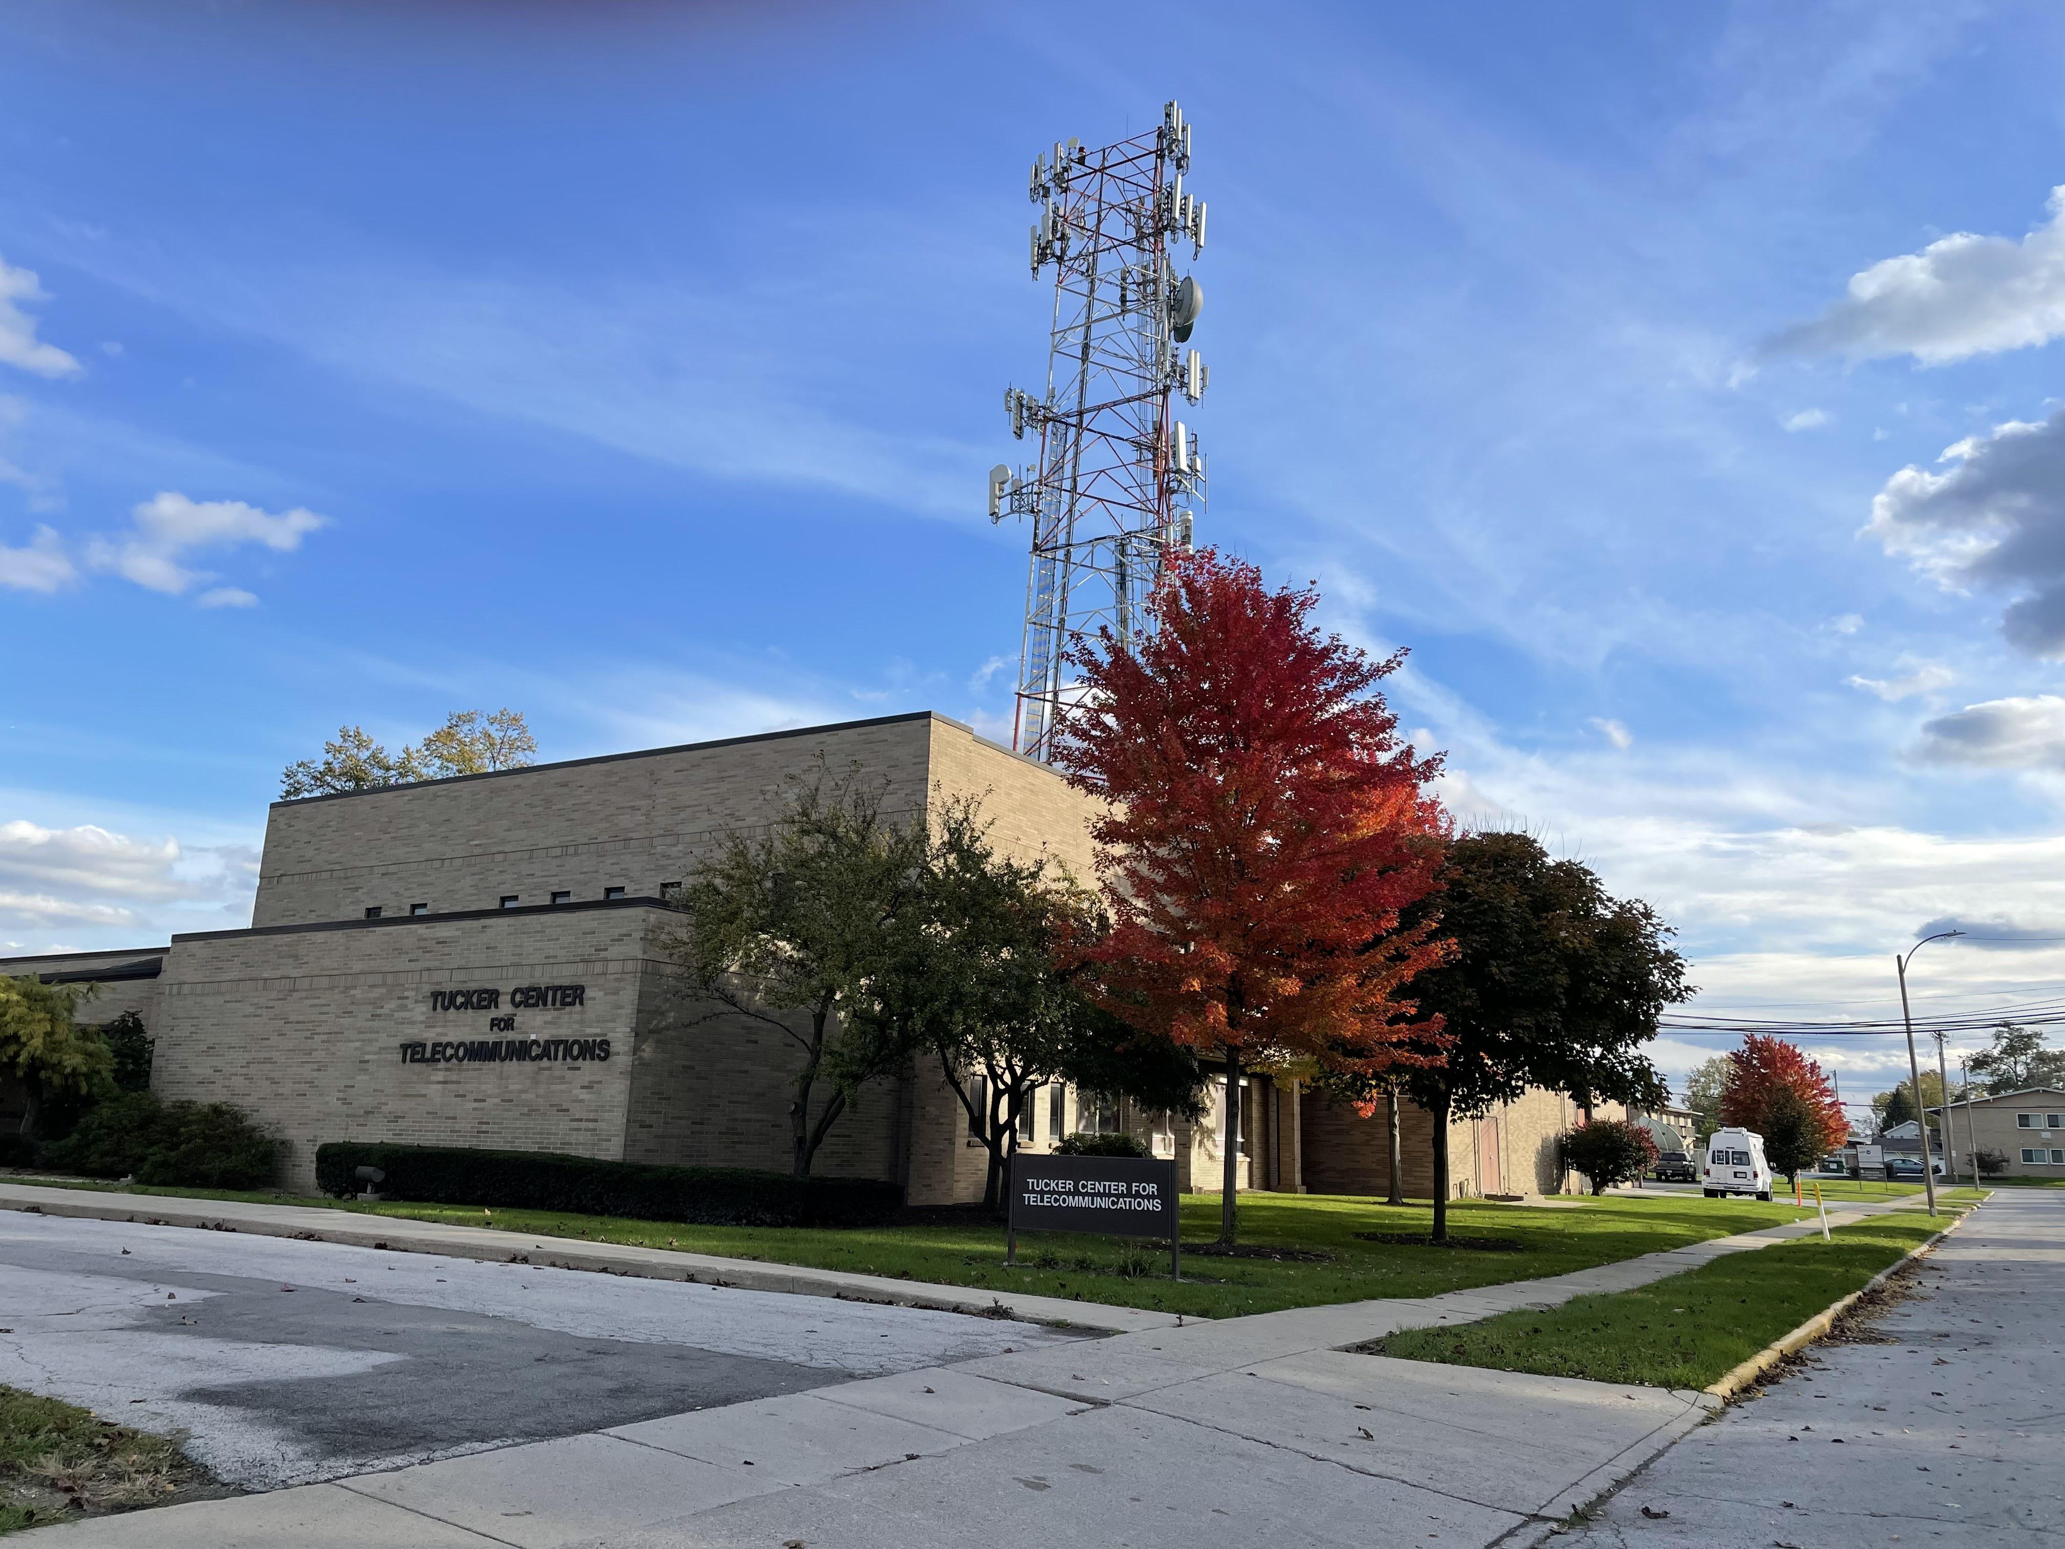
[[[161,1103],[118,1093],[43,1150],[50,1167],[176,1188],[250,1190],[273,1181],[279,1142],[229,1103]]]

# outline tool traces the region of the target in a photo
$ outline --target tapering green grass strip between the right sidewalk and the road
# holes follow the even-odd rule
[[[1454,1328],[1412,1328],[1373,1340],[1369,1355],[1448,1361],[1551,1378],[1704,1388],[1945,1225],[1902,1210],[1854,1227],[1673,1274],[1669,1281],[1578,1297],[1553,1311],[1510,1311]]]

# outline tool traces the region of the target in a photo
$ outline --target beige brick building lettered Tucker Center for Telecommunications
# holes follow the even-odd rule
[[[407,1140],[624,1161],[789,1167],[797,1049],[762,1020],[684,1000],[669,890],[731,832],[764,828],[791,779],[880,777],[909,816],[983,797],[999,847],[1092,876],[1090,801],[938,715],[273,803],[252,925],[163,948],[0,960],[0,973],[101,985],[95,1020],[142,1016],[153,1088],[227,1101],[285,1140],[289,1188],[316,1146]],[[1202,1124],[1043,1088],[1020,1146],[1125,1130],[1216,1190],[1225,1082]],[[4,1107],[4,1101],[0,1101]],[[1555,1188],[1567,1105],[1545,1093],[1460,1121],[1460,1194]],[[1241,1186],[1384,1190],[1384,1124],[1295,1080],[1243,1082]],[[1427,1115],[1410,1111],[1406,1188],[1425,1196]],[[944,1076],[873,1082],[818,1152],[824,1173],[886,1177],[913,1204],[981,1198],[987,1152]]]

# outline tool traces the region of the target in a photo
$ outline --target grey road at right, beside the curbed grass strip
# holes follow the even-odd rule
[[[2065,1190],[1997,1190],[1883,1342],[1819,1345],[1555,1539],[1586,1549],[2038,1549],[2065,1522]]]

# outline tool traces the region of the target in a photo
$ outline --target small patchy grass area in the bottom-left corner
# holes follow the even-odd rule
[[[192,1481],[169,1437],[0,1388],[0,1532],[169,1501]]]

